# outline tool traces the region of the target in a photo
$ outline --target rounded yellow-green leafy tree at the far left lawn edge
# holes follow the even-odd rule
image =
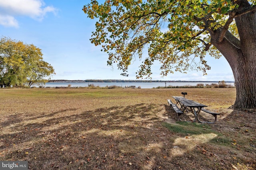
[[[6,37],[0,39],[0,87],[43,83],[51,74],[54,69],[43,61],[41,49]]]

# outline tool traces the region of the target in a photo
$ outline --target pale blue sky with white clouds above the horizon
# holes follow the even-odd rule
[[[136,80],[140,61],[130,66],[128,77],[121,76],[117,66],[107,66],[107,53],[90,43],[96,20],[87,18],[82,11],[88,3],[90,0],[0,0],[0,36],[42,49],[44,61],[56,72],[52,80]],[[208,75],[190,71],[161,77],[160,65],[156,63],[152,80],[234,81],[224,57],[206,56],[206,60],[211,66]]]

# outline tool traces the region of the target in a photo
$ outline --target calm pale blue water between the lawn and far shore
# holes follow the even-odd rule
[[[196,86],[197,84],[212,84],[217,82],[166,82],[166,86]],[[141,88],[156,88],[158,86],[165,87],[165,82],[48,82],[45,87],[88,87],[88,84],[94,84],[94,86],[106,87],[106,86],[140,86]],[[234,86],[234,83],[226,83]]]

